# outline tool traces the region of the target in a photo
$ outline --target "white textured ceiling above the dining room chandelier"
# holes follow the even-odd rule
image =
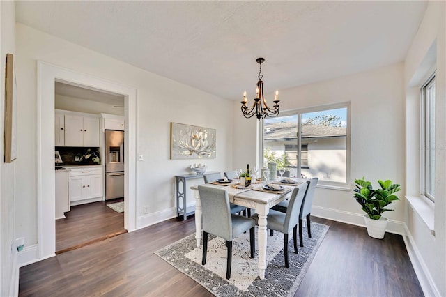
[[[404,61],[427,1],[15,1],[16,20],[222,98]]]

